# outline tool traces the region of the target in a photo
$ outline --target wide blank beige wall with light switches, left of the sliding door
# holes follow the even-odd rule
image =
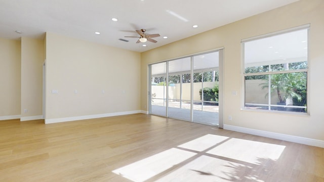
[[[139,110],[140,59],[140,53],[47,32],[46,119]]]

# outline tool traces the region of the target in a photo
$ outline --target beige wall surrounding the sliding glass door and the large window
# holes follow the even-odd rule
[[[224,47],[224,124],[324,140],[324,1],[301,0],[141,54],[141,109],[147,105],[147,65]],[[221,17],[220,17],[221,18]],[[241,39],[310,23],[309,116],[241,110]],[[232,90],[237,95],[232,95]],[[231,115],[232,120],[227,120]]]

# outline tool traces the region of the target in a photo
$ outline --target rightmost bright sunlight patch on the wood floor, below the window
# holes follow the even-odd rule
[[[285,148],[286,146],[233,138],[207,153],[259,164],[259,159],[262,158],[277,160]]]

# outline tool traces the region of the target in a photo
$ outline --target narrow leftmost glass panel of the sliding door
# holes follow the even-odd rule
[[[167,116],[167,63],[151,65],[150,113]]]

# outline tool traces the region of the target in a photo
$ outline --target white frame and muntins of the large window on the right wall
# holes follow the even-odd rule
[[[294,31],[298,31],[298,30],[307,30],[307,68],[306,69],[291,69],[291,70],[280,70],[280,71],[271,71],[270,67],[271,65],[276,65],[278,64],[276,61],[268,61],[268,71],[265,72],[257,72],[257,73],[246,73],[246,65],[245,65],[245,43],[249,42],[249,41],[253,41],[253,40],[258,40],[258,39],[262,39],[262,38],[267,38],[267,37],[271,37],[271,36],[276,36],[276,35],[280,35],[280,34],[285,34],[285,33],[289,33],[289,32],[294,32]],[[310,24],[306,24],[306,25],[302,25],[302,26],[298,26],[298,27],[294,27],[294,28],[290,28],[290,29],[285,29],[285,30],[280,30],[280,31],[276,31],[276,32],[271,32],[271,33],[267,33],[264,35],[258,35],[255,37],[250,37],[250,38],[246,38],[246,39],[242,39],[241,40],[241,78],[242,78],[242,102],[241,102],[241,109],[242,110],[249,110],[249,111],[256,111],[256,112],[280,112],[280,113],[288,113],[288,114],[300,114],[300,115],[309,115],[309,29],[310,29]],[[289,63],[296,63],[298,61],[295,62],[289,62]],[[257,65],[256,63],[254,63],[255,65]],[[282,64],[282,63],[279,63]],[[252,66],[253,64],[251,64]],[[259,66],[259,65],[258,65]],[[262,65],[265,66],[265,65]],[[274,74],[284,74],[284,73],[298,73],[298,72],[305,72],[306,73],[306,106],[302,107],[302,106],[290,106],[292,108],[306,108],[306,112],[293,112],[293,111],[277,111],[277,110],[271,110],[271,107],[275,107],[276,105],[271,104],[271,97],[269,97],[268,99],[268,103],[266,104],[268,106],[268,109],[249,109],[246,107],[246,105],[248,103],[246,103],[246,76],[260,76],[260,75],[274,75]],[[271,76],[270,76],[271,77]],[[269,85],[270,85],[270,81],[269,81]],[[268,90],[268,93],[270,94],[270,88]],[[259,104],[259,103],[258,103]],[[258,105],[258,104],[254,104],[254,105]],[[264,105],[264,104],[260,104],[260,105]],[[288,106],[289,107],[289,106]]]

